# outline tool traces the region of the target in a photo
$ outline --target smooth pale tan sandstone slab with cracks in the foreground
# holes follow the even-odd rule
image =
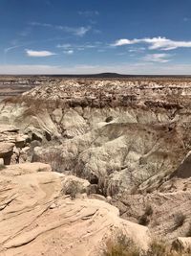
[[[68,177],[49,171],[35,163],[1,172],[0,255],[100,255],[117,230],[147,247],[146,227],[120,219],[117,208],[104,201],[65,196]]]

